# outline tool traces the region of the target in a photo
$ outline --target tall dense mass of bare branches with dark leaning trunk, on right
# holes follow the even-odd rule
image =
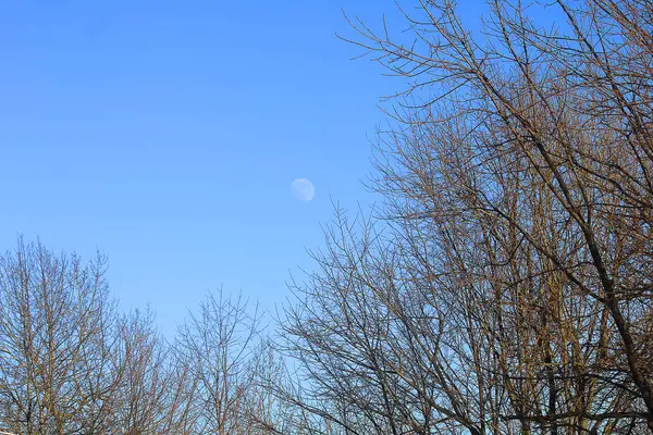
[[[448,0],[402,7],[411,37],[352,21],[410,85],[382,221],[338,219],[288,312],[306,402],[347,433],[651,431],[653,3],[488,4],[482,40]]]

